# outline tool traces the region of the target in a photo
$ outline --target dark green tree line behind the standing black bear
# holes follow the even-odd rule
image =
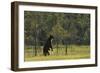
[[[90,44],[90,14],[24,11],[25,45]]]

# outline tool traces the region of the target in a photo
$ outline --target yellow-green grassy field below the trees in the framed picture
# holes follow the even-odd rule
[[[37,49],[36,56],[32,48],[25,48],[24,61],[44,61],[44,60],[70,60],[90,58],[90,47],[86,45],[70,45],[54,48],[49,56],[43,56],[42,47]]]

